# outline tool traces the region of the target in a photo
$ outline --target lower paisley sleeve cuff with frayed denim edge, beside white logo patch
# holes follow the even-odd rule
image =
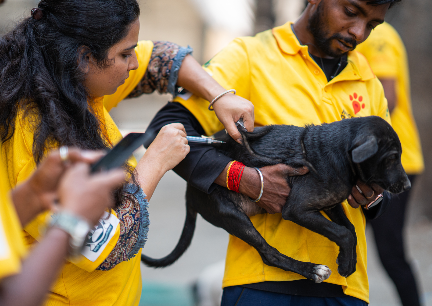
[[[146,243],[150,221],[145,196],[139,186],[125,186],[122,205],[114,208],[120,220],[120,237],[117,245],[96,270],[111,270],[119,263],[135,257]]]

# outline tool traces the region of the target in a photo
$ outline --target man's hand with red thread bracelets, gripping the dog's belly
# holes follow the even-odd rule
[[[216,178],[215,183],[226,187],[226,171],[228,165]],[[293,168],[286,164],[276,164],[260,168],[264,179],[264,191],[257,205],[264,208],[269,214],[281,213],[291,188],[287,177],[303,175],[309,172],[308,167]],[[254,168],[245,167],[240,180],[238,191],[251,199],[257,199],[261,191],[261,179]]]

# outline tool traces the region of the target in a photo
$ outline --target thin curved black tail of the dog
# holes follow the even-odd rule
[[[175,249],[169,255],[160,259],[150,258],[149,256],[142,254],[141,260],[144,262],[144,264],[155,268],[163,268],[173,264],[177,259],[180,258],[181,255],[183,255],[184,251],[186,251],[186,249],[191,244],[192,237],[194,236],[196,221],[197,212],[191,208],[190,205],[186,204],[186,220],[184,221],[183,232],[181,233],[180,240],[178,240]]]

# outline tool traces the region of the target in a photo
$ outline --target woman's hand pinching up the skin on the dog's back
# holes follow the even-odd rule
[[[229,136],[236,142],[242,143],[241,134],[235,126],[240,118],[243,118],[243,124],[248,132],[254,131],[254,104],[251,101],[228,93],[219,98],[212,107]]]

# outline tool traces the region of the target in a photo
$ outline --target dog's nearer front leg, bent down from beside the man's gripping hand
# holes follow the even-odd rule
[[[298,189],[292,188],[287,204],[283,207],[282,217],[335,242],[339,246],[339,255],[336,260],[339,265],[337,271],[341,276],[349,276],[353,260],[353,234],[346,227],[327,220],[318,210],[314,209],[315,205],[311,204],[316,199],[302,197],[302,192],[299,192]]]

